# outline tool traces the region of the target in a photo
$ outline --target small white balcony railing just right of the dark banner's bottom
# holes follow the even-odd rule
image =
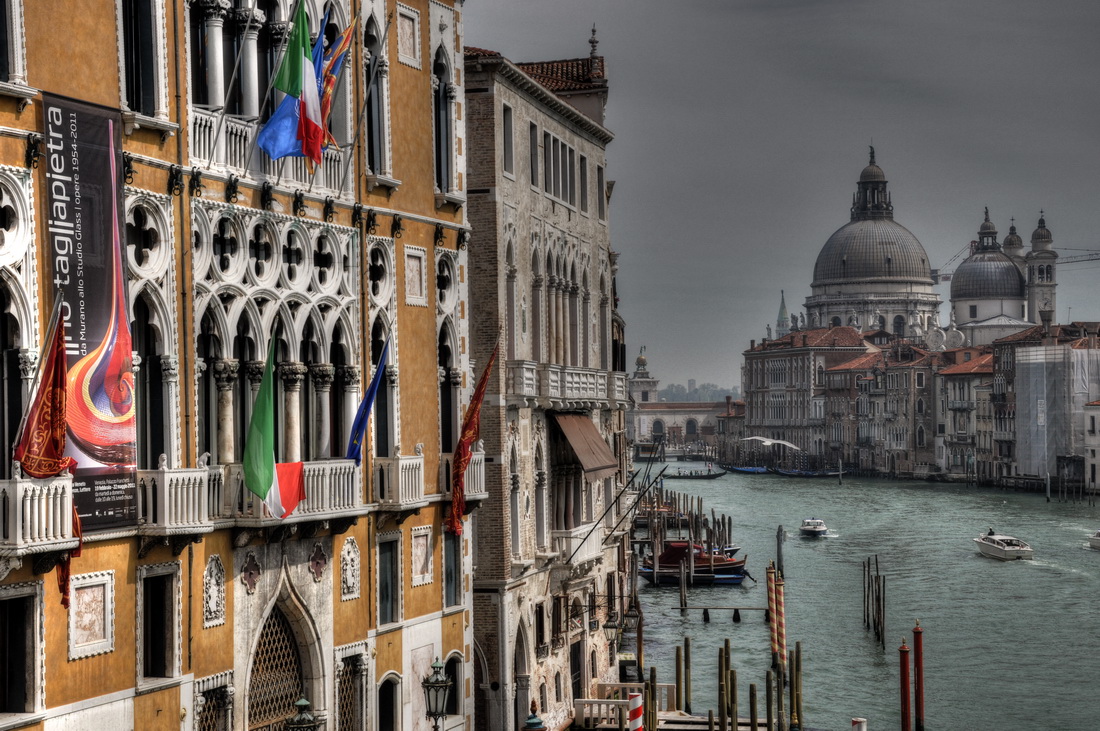
[[[220,478],[221,470],[215,469]],[[218,480],[220,484],[220,479]],[[138,520],[146,535],[209,533],[210,470],[139,469]],[[219,491],[220,492],[220,491]]]

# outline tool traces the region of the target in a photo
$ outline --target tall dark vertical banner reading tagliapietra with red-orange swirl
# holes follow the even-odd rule
[[[133,351],[117,110],[43,95],[46,235],[65,299],[73,499],[85,530],[138,520]]]

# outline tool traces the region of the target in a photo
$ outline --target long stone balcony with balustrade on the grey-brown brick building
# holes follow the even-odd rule
[[[509,406],[607,409],[627,400],[626,374],[617,370],[508,361],[506,378]]]

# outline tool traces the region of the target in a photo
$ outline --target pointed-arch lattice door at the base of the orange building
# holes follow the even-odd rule
[[[250,731],[283,731],[302,697],[304,679],[298,642],[278,607],[260,632],[249,678]]]

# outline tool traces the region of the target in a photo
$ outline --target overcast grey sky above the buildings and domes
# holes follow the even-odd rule
[[[587,55],[596,25],[628,362],[646,345],[664,385],[740,385],[872,142],[933,267],[987,206],[999,240],[1015,217],[1026,244],[1043,209],[1059,254],[1100,250],[1094,1],[466,0],[464,23],[515,62]],[[1098,275],[1059,268],[1059,320],[1100,320]]]

